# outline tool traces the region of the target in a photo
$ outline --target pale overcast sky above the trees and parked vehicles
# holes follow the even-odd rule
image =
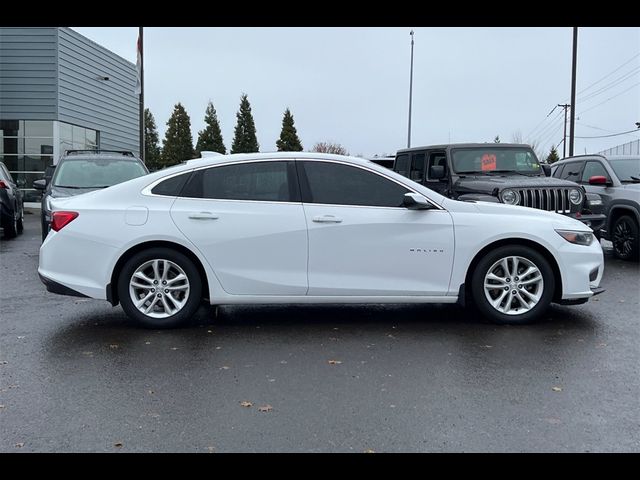
[[[135,63],[137,27],[73,28]],[[145,28],[145,104],[161,139],[182,102],[195,142],[211,100],[229,148],[247,93],[261,151],[276,150],[289,107],[305,150],[333,141],[351,154],[395,153],[407,144],[410,30]],[[570,101],[570,27],[414,30],[412,146],[507,142],[518,131],[545,151],[561,142],[562,110],[546,115]],[[640,28],[580,28],[577,91],[576,136],[634,129]],[[638,138],[576,138],[575,153]]]

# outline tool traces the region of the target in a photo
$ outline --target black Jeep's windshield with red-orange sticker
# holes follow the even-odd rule
[[[456,173],[490,175],[517,172],[527,175],[542,174],[540,163],[530,148],[456,148],[451,150],[453,170]]]

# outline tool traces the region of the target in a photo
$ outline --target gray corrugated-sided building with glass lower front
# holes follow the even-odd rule
[[[69,28],[0,28],[0,161],[25,201],[65,150],[139,153],[135,87],[135,64]]]

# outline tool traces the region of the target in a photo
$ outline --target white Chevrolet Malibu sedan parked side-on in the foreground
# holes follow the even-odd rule
[[[526,323],[602,291],[602,248],[581,222],[451,200],[353,157],[206,156],[52,207],[47,289],[120,303],[151,328],[184,323],[203,298],[473,303]]]

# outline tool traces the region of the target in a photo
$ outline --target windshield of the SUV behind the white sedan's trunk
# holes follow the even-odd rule
[[[53,185],[67,188],[104,188],[146,175],[142,163],[117,159],[66,159],[58,165]]]

